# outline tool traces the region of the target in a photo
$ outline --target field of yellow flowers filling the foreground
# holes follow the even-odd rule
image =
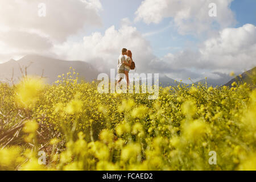
[[[1,170],[256,170],[256,91],[246,83],[160,88],[148,100],[100,94],[77,75],[0,84]]]

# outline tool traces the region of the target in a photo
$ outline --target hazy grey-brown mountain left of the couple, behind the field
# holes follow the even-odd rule
[[[47,79],[49,84],[57,80],[58,75],[69,72],[69,67],[75,69],[79,73],[79,78],[92,81],[98,76],[98,71],[91,64],[85,61],[64,61],[52,59],[50,57],[27,55],[20,60],[10,60],[0,64],[0,81],[9,81],[12,77],[14,82],[22,77],[27,67],[27,75],[42,76]],[[25,73],[24,73],[25,74]]]

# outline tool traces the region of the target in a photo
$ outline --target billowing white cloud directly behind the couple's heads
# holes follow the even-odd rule
[[[143,38],[137,28],[127,25],[123,25],[119,30],[114,26],[109,27],[104,35],[94,32],[90,36],[85,36],[81,43],[60,44],[55,46],[53,52],[69,60],[88,61],[101,72],[108,72],[110,68],[117,67],[122,48],[133,52],[133,59],[140,72],[146,72],[145,64],[155,59],[150,43]]]

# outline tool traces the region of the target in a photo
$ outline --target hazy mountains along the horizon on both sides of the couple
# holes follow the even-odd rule
[[[96,68],[93,67],[90,63],[86,63],[85,61],[66,61],[66,60],[59,60],[59,59],[52,59],[51,57],[39,56],[39,55],[27,55],[22,57],[17,61],[10,60],[6,63],[0,64],[0,81],[10,81],[13,78],[14,82],[17,82],[20,77],[22,77],[22,72],[25,71],[27,67],[27,75],[37,75],[47,78],[47,82],[52,84],[57,80],[58,75],[62,75],[63,73],[69,72],[69,67],[75,69],[75,72],[79,73],[79,78],[81,80],[92,81],[96,80],[99,72]],[[20,69],[21,68],[21,69]],[[231,84],[236,80],[248,80],[248,73],[255,72],[255,68],[242,73],[242,78],[236,77],[233,78],[229,75],[225,75],[221,73],[217,73],[221,76],[221,78],[217,79],[207,79],[208,85],[211,86],[221,86],[221,85],[228,85]],[[205,80],[200,80],[195,82],[205,82]],[[165,75],[159,75],[159,83],[161,86],[176,86],[179,82],[175,82],[174,79],[169,78]],[[181,83],[184,84],[184,83]],[[187,84],[186,84],[187,85]],[[191,84],[189,84],[191,86]]]

